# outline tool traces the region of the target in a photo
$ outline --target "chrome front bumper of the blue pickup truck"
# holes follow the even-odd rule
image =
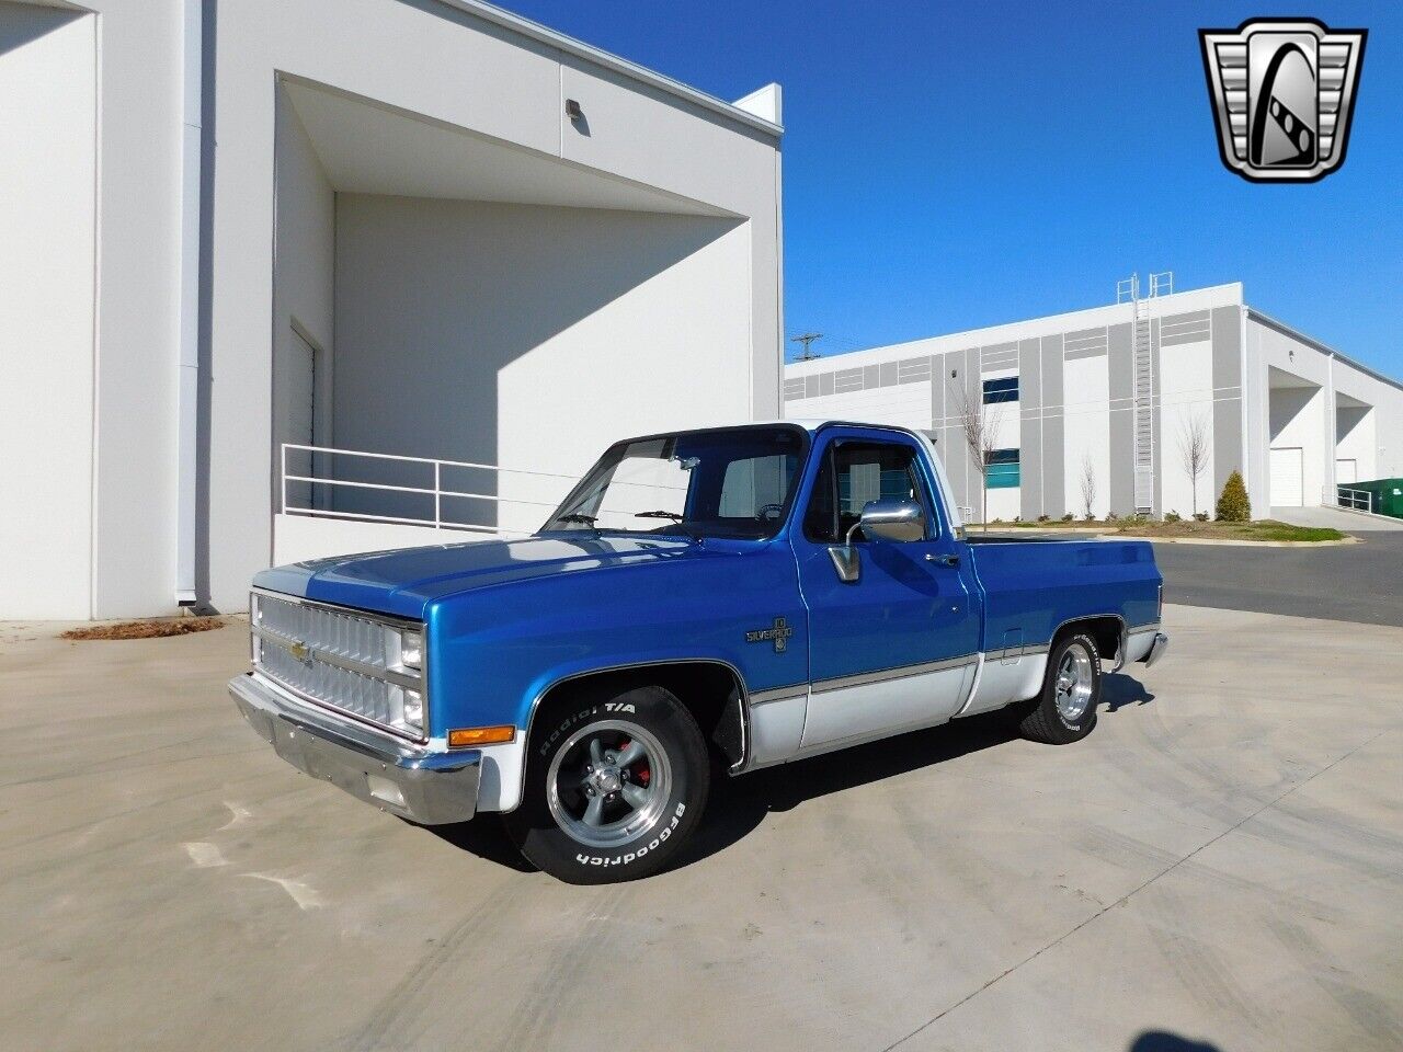
[[[466,822],[477,812],[483,755],[422,752],[297,704],[251,673],[229,694],[258,735],[297,770],[419,825]]]

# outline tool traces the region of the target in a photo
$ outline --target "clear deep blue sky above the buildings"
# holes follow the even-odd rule
[[[1403,379],[1403,4],[505,0],[734,100],[784,86],[787,335],[826,353],[1114,300],[1118,278],[1247,302]],[[1200,27],[1365,27],[1345,166],[1229,174]],[[787,348],[793,356],[794,348]]]

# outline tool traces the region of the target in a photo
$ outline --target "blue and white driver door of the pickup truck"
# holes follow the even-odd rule
[[[801,748],[880,738],[943,722],[968,693],[979,645],[969,568],[932,499],[934,480],[899,432],[845,429],[815,454],[796,532],[810,610],[810,701]],[[829,548],[843,544],[877,498],[922,505],[925,536],[853,541],[857,581],[839,579]]]

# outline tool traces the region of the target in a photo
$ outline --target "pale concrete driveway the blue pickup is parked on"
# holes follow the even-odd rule
[[[607,888],[282,764],[223,693],[240,626],[10,626],[0,1044],[1403,1046],[1403,630],[1166,621],[1080,745],[979,720],[741,778]]]

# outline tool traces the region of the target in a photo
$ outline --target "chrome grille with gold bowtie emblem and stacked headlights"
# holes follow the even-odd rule
[[[253,607],[258,672],[313,701],[405,734],[403,685],[412,677],[394,663],[398,644],[383,621],[261,592]]]

